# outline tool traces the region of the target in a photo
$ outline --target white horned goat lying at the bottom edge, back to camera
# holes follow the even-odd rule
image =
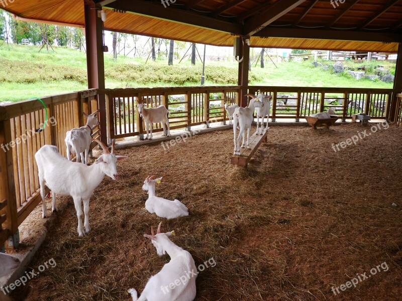
[[[189,252],[176,246],[169,239],[175,235],[174,231],[160,232],[161,224],[159,223],[156,235],[151,228],[151,235],[144,236],[151,239],[159,256],[167,252],[170,261],[159,273],[148,280],[140,297],[137,296],[134,288],[129,289],[128,292],[133,301],[192,301],[196,294],[195,278],[197,276],[194,259]]]

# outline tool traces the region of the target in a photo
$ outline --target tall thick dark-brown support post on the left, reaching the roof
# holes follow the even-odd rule
[[[99,5],[84,3],[86,63],[88,73],[88,88],[105,89],[105,61],[103,44],[103,22],[97,17]],[[108,143],[106,126],[105,94],[98,94],[100,140]]]

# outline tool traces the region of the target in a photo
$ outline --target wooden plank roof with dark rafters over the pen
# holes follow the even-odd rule
[[[105,29],[165,39],[233,46],[233,36],[244,36],[252,47],[377,52],[396,52],[402,42],[402,0],[171,1],[165,8],[161,0],[94,0],[107,12]],[[14,1],[5,9],[84,26],[83,0]]]

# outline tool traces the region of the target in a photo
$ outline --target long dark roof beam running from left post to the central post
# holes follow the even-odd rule
[[[117,0],[107,6],[111,9],[117,9],[135,14],[170,20],[203,28],[214,29],[226,33],[236,35],[242,34],[242,26],[240,24],[231,23],[228,21],[211,18],[208,16],[188,12],[182,9],[171,8],[163,5],[144,2],[140,0],[130,0],[130,2]]]

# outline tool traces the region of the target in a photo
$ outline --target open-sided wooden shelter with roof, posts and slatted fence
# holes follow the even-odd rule
[[[362,111],[390,121],[402,120],[402,0],[24,0],[3,1],[15,18],[85,29],[87,91],[44,98],[58,127],[46,128],[8,152],[0,152],[0,246],[11,238],[15,247],[18,226],[40,203],[37,167],[33,155],[44,143],[63,153],[66,129],[83,125],[82,112],[100,110],[94,136],[104,142],[143,133],[143,121],[134,110],[135,100],[151,105],[171,105],[169,95],[184,95],[184,111],[171,114],[172,128],[190,127],[225,119],[224,112],[210,108],[211,101],[245,106],[247,93],[259,89],[273,96],[272,120],[293,116],[296,121],[328,107],[332,93],[343,95],[336,107],[342,119]],[[99,11],[106,12],[106,21]],[[216,46],[233,46],[239,37],[237,86],[105,89],[103,31],[148,35]],[[348,51],[397,52],[393,89],[327,87],[255,87],[248,85],[250,47],[298,48]],[[210,99],[210,93],[222,99]],[[280,92],[295,93],[296,105],[283,113]],[[354,108],[348,101],[354,101]],[[128,109],[126,111],[126,108]],[[217,117],[218,116],[218,117]],[[28,126],[43,120],[39,102],[26,101],[0,107],[0,144],[10,143]],[[161,128],[155,131],[161,130]],[[24,146],[27,143],[26,146]],[[3,215],[1,214],[3,213]]]

